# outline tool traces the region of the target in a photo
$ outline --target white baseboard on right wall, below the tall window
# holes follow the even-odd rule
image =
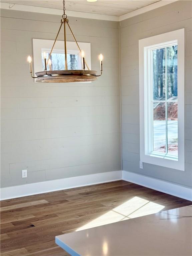
[[[128,171],[122,171],[122,180],[192,201],[192,188],[190,187]]]

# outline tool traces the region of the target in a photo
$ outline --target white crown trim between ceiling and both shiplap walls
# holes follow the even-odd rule
[[[67,11],[67,15],[69,17],[78,17],[78,18],[87,18],[87,19],[96,19],[96,20],[122,21],[122,20],[129,19],[131,17],[137,16],[139,14],[151,11],[153,9],[162,7],[164,5],[167,5],[176,1],[178,0],[161,0],[159,2],[147,5],[138,10],[129,12],[121,16],[103,15],[103,14],[76,12],[76,11]],[[53,15],[60,15],[60,16],[63,14],[63,10],[59,10],[59,9],[31,6],[31,5],[22,5],[22,4],[10,4],[10,3],[4,3],[4,2],[0,3],[0,8],[6,9],[6,10],[45,13],[45,14],[53,14]]]

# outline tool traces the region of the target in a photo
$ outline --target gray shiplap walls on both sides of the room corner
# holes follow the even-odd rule
[[[70,18],[77,40],[91,42],[92,68],[99,70],[99,53],[105,56],[97,82],[37,84],[26,56],[32,55],[32,38],[55,38],[59,17],[13,10],[1,16],[2,187],[120,170],[118,22]],[[191,1],[177,1],[120,23],[123,170],[186,186],[192,181],[191,17]],[[183,27],[186,170],[139,169],[138,40]]]

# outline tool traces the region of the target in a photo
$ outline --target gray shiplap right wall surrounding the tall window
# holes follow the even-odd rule
[[[185,28],[185,171],[143,164],[139,168],[138,40]],[[191,186],[192,183],[192,1],[177,1],[121,21],[123,170]]]

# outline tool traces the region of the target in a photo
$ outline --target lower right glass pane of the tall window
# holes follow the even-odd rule
[[[178,118],[177,103],[167,103],[168,154],[178,155]]]

